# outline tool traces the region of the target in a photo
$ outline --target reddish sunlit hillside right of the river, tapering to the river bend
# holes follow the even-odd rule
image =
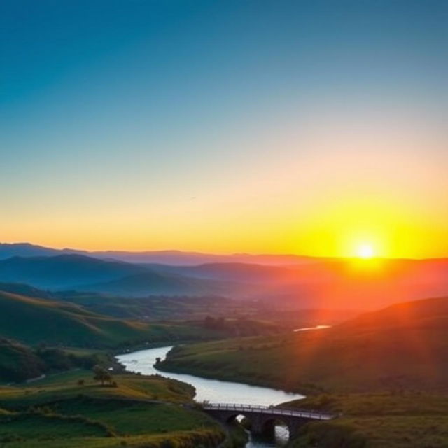
[[[447,391],[447,311],[422,300],[326,330],[183,346],[160,368],[305,393]]]

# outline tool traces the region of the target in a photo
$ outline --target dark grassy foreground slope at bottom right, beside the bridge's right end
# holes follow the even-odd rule
[[[448,446],[448,396],[426,394],[321,395],[286,403],[321,409],[339,419],[309,423],[291,448],[444,448]]]

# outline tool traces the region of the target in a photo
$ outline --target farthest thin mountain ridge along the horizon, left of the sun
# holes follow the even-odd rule
[[[201,265],[214,262],[239,262],[258,265],[295,265],[304,262],[312,262],[313,257],[300,255],[251,255],[248,253],[235,253],[230,255],[216,255],[200,252],[183,251],[80,251],[64,248],[54,249],[43,246],[35,246],[29,243],[1,244],[0,260],[10,257],[45,257],[62,254],[86,255],[103,260],[121,260],[132,263],[161,263],[165,265]]]

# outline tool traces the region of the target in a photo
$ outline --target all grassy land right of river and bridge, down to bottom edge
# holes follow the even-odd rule
[[[328,330],[182,346],[160,368],[304,392],[338,419],[291,447],[448,447],[448,299],[398,304]]]

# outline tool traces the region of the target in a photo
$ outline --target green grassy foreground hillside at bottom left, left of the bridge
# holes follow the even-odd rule
[[[79,371],[0,388],[1,446],[194,448],[223,440],[220,426],[185,406],[194,393],[188,384],[132,374],[114,381],[100,386]]]

